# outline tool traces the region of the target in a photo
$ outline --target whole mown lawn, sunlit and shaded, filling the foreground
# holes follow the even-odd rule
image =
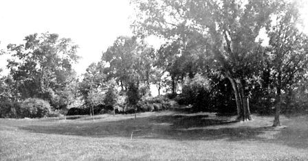
[[[308,117],[147,112],[0,119],[1,160],[308,160]]]

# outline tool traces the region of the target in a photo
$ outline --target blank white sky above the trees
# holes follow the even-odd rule
[[[302,11],[307,27],[307,3]],[[0,0],[0,49],[21,44],[30,34],[56,33],[79,45],[82,58],[74,69],[82,74],[91,62],[100,60],[115,38],[132,35],[132,13],[129,0]],[[7,58],[0,56],[0,68]]]

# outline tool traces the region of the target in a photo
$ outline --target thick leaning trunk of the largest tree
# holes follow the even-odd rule
[[[248,99],[244,93],[243,84],[232,77],[228,77],[232,84],[232,89],[234,92],[234,97],[236,101],[237,108],[237,121],[248,121],[251,120],[250,109],[248,106]]]

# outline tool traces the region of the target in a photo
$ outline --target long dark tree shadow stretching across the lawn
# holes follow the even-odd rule
[[[71,122],[50,121],[45,125],[23,125],[20,129],[43,134],[63,134],[94,138],[150,138],[170,140],[257,140],[278,143],[300,149],[308,148],[308,127],[298,128],[298,123],[284,129],[269,127],[263,118],[250,123],[236,123],[228,116],[208,116],[205,114],[166,114],[162,116],[140,116],[116,121],[96,121],[83,118]],[[267,123],[267,124],[266,124]],[[288,122],[286,123],[288,124]]]

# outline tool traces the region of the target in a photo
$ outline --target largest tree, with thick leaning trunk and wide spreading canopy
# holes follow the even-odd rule
[[[155,34],[169,40],[180,38],[184,46],[188,40],[198,40],[201,36],[200,45],[210,52],[232,84],[238,120],[251,119],[245,103],[249,96],[246,80],[256,71],[254,66],[261,57],[256,38],[269,23],[275,1],[132,2],[139,10],[133,24],[136,34]]]

